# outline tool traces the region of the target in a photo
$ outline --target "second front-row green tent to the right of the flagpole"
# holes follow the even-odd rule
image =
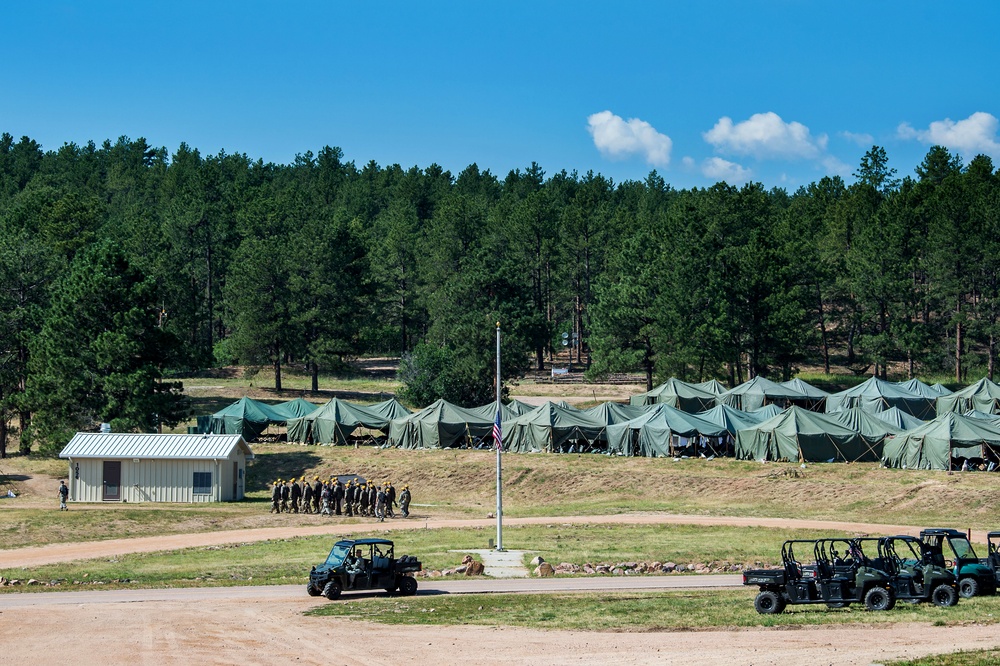
[[[671,438],[724,437],[725,427],[688,414],[670,405],[656,405],[645,414],[630,421],[608,426],[608,452],[625,456],[656,458],[673,455]],[[716,447],[706,443],[714,455]]]

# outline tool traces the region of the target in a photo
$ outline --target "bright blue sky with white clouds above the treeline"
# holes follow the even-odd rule
[[[9,3],[0,132],[794,190],[1000,163],[1000,3]]]

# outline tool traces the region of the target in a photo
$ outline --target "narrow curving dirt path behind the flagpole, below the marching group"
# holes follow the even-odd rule
[[[823,520],[798,520],[786,518],[756,518],[745,516],[691,516],[664,513],[617,514],[608,516],[560,516],[540,518],[508,518],[505,525],[561,525],[561,524],[623,524],[623,525],[730,525],[737,527],[778,527],[784,529],[830,530],[838,533],[865,534],[914,534],[921,528],[913,525],[882,525],[876,523],[848,523]],[[395,520],[388,523],[314,525],[309,527],[269,527],[260,529],[172,534],[134,539],[110,539],[79,543],[50,544],[31,548],[0,551],[0,569],[31,567],[56,562],[111,557],[125,553],[150,553],[159,550],[201,548],[227,543],[247,543],[268,539],[288,539],[322,534],[347,535],[372,530],[408,530],[491,527],[492,520]],[[973,532],[973,537],[985,540],[985,533]]]

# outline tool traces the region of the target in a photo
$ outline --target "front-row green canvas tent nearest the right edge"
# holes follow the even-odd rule
[[[945,412],[885,444],[886,467],[951,469],[953,458],[997,459],[1000,428],[989,421]]]

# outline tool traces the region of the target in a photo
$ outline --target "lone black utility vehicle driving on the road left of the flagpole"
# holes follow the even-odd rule
[[[393,543],[387,539],[338,541],[326,561],[309,572],[306,592],[327,599],[336,599],[341,592],[350,590],[416,594],[417,580],[410,574],[421,568],[415,557],[393,557]]]

